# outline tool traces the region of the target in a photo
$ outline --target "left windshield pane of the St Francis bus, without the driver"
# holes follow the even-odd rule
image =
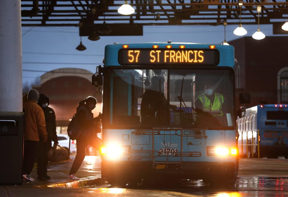
[[[107,73],[111,125],[167,124],[167,70],[115,69]]]

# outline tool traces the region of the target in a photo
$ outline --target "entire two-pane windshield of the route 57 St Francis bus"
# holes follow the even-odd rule
[[[104,77],[113,127],[235,126],[231,70],[107,69]]]

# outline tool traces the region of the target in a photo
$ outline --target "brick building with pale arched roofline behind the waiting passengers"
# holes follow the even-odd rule
[[[43,74],[41,85],[33,87],[49,97],[49,107],[54,109],[56,115],[57,133],[67,134],[67,125],[76,113],[79,101],[88,96],[98,100],[92,111],[94,116],[101,112],[101,95],[96,94],[98,88],[91,84],[92,74],[79,68],[56,69]]]

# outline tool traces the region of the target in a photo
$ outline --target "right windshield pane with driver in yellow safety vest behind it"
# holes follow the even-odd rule
[[[170,124],[234,126],[231,79],[228,70],[170,70]],[[213,89],[210,95],[205,92],[208,86]],[[195,93],[191,92],[194,90]],[[194,94],[195,108],[192,109]]]

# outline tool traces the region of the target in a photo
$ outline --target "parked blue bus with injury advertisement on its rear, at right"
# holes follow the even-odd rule
[[[238,118],[238,132],[241,157],[284,156],[288,159],[287,104],[257,105],[246,109],[244,117]]]

